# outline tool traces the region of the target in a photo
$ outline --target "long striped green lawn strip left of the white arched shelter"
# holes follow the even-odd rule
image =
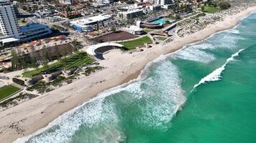
[[[61,69],[72,69],[77,66],[91,64],[93,61],[94,59],[91,59],[91,57],[88,56],[86,52],[81,52],[72,56],[68,56],[66,59],[57,61],[54,64],[50,64],[46,67],[44,66],[42,68],[32,71],[25,71],[24,73],[22,73],[22,75],[23,77],[32,77],[41,73],[50,74],[55,71],[60,71]]]

